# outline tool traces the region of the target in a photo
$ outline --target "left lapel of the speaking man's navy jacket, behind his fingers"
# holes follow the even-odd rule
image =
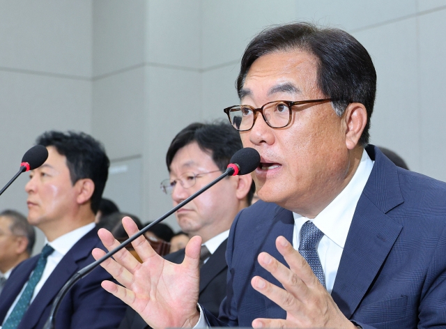
[[[275,209],[275,217],[270,223],[270,225],[266,225],[266,222],[262,222],[257,227],[256,241],[259,241],[260,245],[256,245],[256,250],[259,250],[259,252],[256,254],[259,254],[260,252],[268,252],[268,254],[270,254],[272,257],[283,263],[286,267],[289,267],[282,254],[277,251],[275,241],[278,236],[284,236],[286,240],[293,243],[293,213],[277,206]],[[268,282],[283,288],[282,284],[280,284],[280,282],[278,282],[275,277],[271,275],[271,273],[260,266],[257,259],[255,260],[255,269],[254,275],[259,275]],[[274,303],[266,296],[261,295],[261,293],[259,293],[259,296],[263,298],[265,305],[263,312],[262,310],[259,311],[262,313],[261,317],[266,317],[269,319],[285,319],[286,312],[284,309],[279,307],[279,305]]]

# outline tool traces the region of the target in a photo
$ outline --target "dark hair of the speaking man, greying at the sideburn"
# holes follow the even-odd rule
[[[247,46],[236,80],[238,94],[252,63],[272,52],[302,49],[318,59],[317,84],[332,98],[338,116],[349,103],[360,102],[367,109],[367,125],[360,137],[362,146],[369,144],[370,117],[376,95],[376,71],[367,50],[346,31],[318,28],[310,23],[272,26],[261,31]]]

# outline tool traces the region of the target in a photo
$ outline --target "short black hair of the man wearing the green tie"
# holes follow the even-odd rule
[[[84,132],[47,131],[40,135],[36,144],[54,146],[64,155],[74,185],[79,179],[90,178],[95,184],[91,195],[91,210],[98,212],[102,192],[109,174],[110,161],[99,141]]]

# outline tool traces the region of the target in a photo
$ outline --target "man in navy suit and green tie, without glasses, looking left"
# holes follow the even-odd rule
[[[13,270],[0,300],[2,329],[40,329],[62,286],[92,263],[91,250],[103,247],[95,212],[107,181],[109,159],[91,136],[45,132],[37,144],[48,159],[30,172],[26,183],[28,221],[45,234],[42,253]],[[96,268],[68,291],[56,315],[56,328],[116,328],[125,305],[100,288],[111,279]]]

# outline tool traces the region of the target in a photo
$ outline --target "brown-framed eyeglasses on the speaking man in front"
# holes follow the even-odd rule
[[[233,128],[238,131],[248,131],[254,127],[256,122],[257,112],[263,116],[263,120],[271,128],[284,128],[291,122],[291,107],[295,105],[303,105],[314,102],[327,102],[331,98],[324,98],[321,100],[275,100],[274,102],[267,102],[259,109],[249,105],[236,105],[226,107],[224,113],[228,115],[229,122]]]

